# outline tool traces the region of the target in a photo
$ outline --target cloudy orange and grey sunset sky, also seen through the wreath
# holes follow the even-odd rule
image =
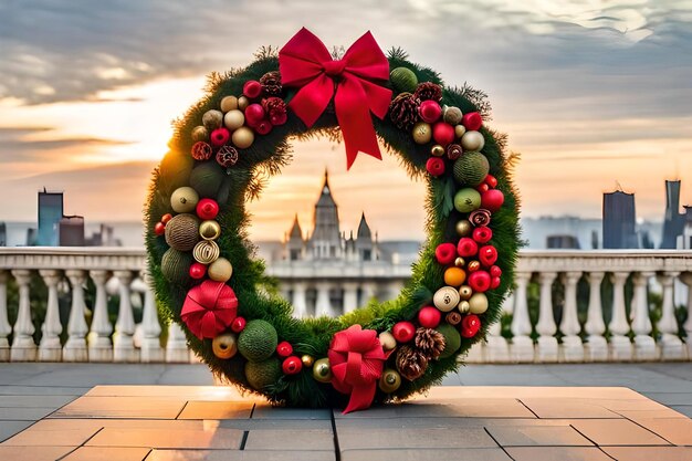
[[[599,217],[601,193],[637,193],[662,219],[663,180],[692,203],[692,2],[186,1],[0,2],[0,221],[34,221],[35,192],[66,213],[137,220],[170,122],[206,74],[242,66],[307,27],[327,46],[370,30],[450,85],[485,91],[493,128],[522,154],[525,216]],[[365,210],[380,239],[422,235],[423,188],[386,156],[296,144],[294,163],[252,206],[253,234],[310,227],[328,168],[346,230]]]

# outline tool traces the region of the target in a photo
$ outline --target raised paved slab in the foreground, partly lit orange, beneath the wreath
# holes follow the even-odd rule
[[[342,415],[224,387],[96,386],[0,443],[23,461],[447,459],[692,460],[692,420],[622,387],[436,387]]]

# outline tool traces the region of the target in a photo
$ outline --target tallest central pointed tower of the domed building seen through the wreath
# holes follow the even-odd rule
[[[342,237],[338,226],[338,207],[329,189],[329,176],[324,171],[324,184],[317,203],[315,203],[314,229],[310,238],[308,250],[315,260],[337,259],[342,256]]]

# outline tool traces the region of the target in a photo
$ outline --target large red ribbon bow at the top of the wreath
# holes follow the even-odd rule
[[[282,85],[301,87],[289,107],[308,128],[334,96],[348,168],[358,151],[382,158],[370,112],[379,118],[387,115],[391,90],[373,81],[389,78],[389,62],[370,32],[335,61],[324,43],[303,28],[279,52],[279,70]]]

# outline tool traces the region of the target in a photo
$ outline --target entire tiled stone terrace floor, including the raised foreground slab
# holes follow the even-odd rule
[[[471,365],[347,416],[207,384],[198,365],[0,364],[0,461],[692,460],[692,364]]]

